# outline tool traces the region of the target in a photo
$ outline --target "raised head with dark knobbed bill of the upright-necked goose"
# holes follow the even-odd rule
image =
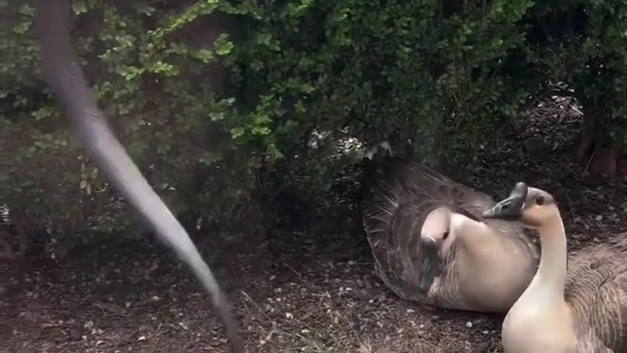
[[[526,228],[539,229],[560,216],[557,203],[550,193],[519,182],[509,197],[483,212],[482,217],[519,222]]]

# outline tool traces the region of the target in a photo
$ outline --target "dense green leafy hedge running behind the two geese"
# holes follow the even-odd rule
[[[112,127],[175,212],[228,225],[263,214],[287,186],[324,190],[358,156],[330,153],[344,138],[387,139],[455,174],[547,79],[622,117],[626,6],[574,3],[79,0],[73,45]],[[586,26],[546,40],[542,21],[582,6]],[[100,220],[113,194],[39,78],[33,1],[10,10],[0,199],[50,224],[77,204],[85,222]],[[608,73],[588,70],[591,60]]]

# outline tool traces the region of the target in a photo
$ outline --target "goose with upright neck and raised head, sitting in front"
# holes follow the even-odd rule
[[[567,257],[556,201],[524,182],[482,218],[540,234],[537,273],[503,320],[505,353],[627,352],[627,233]]]

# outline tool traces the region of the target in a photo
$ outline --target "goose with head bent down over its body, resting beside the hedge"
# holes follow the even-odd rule
[[[376,276],[428,310],[505,313],[527,288],[540,249],[519,225],[480,222],[483,192],[407,158],[365,158],[362,222]]]

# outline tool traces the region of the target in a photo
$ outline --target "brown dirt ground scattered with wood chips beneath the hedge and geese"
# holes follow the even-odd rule
[[[584,176],[586,167],[571,162],[580,117],[540,107],[526,119],[510,141],[478,146],[464,182],[494,198],[519,180],[554,193],[571,250],[624,231],[625,180]],[[525,151],[530,136],[542,137],[544,150]],[[502,352],[502,317],[429,312],[377,280],[351,175],[339,178],[314,215],[291,205],[291,222],[214,247],[248,351]],[[208,295],[154,239],[91,244],[63,268],[33,265],[20,274],[0,266],[8,274],[0,278],[8,284],[0,293],[0,350],[228,352]]]

